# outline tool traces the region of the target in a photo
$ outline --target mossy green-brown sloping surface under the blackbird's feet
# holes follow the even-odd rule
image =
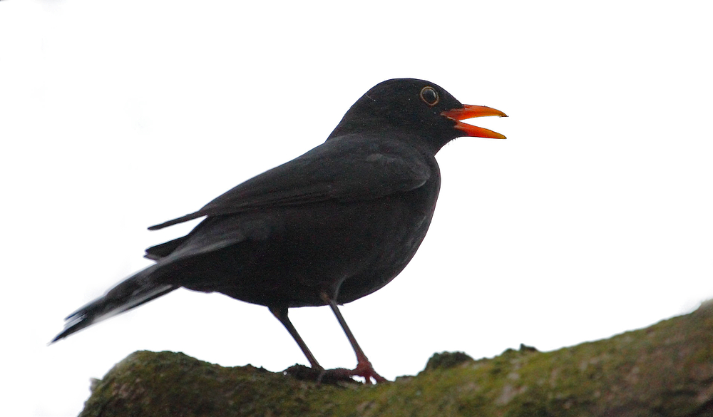
[[[138,351],[92,388],[80,416],[713,416],[713,303],[557,351],[444,352],[377,386]]]

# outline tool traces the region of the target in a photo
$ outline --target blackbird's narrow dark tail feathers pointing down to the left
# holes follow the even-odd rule
[[[138,307],[178,288],[172,284],[155,282],[155,278],[151,274],[153,271],[154,267],[152,266],[138,272],[133,277],[120,282],[102,297],[68,315],[64,319],[64,329],[50,341],[50,344],[98,321]]]

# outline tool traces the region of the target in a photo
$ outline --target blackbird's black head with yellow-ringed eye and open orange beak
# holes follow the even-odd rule
[[[396,131],[428,142],[434,151],[461,136],[505,139],[500,133],[460,121],[488,115],[506,116],[494,108],[462,104],[429,81],[396,78],[376,84],[361,96],[329,138]]]

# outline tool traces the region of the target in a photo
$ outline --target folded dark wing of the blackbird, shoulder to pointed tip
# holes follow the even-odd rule
[[[324,200],[373,200],[414,190],[434,174],[427,158],[399,140],[374,140],[364,135],[333,138],[288,163],[237,185],[197,212],[149,227],[149,230],[203,216]]]

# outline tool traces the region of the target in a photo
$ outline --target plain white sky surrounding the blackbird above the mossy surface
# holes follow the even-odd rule
[[[306,364],[265,307],[185,290],[46,343],[195,222],[146,227],[319,145],[388,78],[511,117],[473,120],[508,140],[438,153],[419,253],[342,308],[383,376],[713,297],[709,2],[250,3],[0,1],[2,415],[74,416],[140,349]],[[356,364],[328,308],[290,316],[323,366]]]

